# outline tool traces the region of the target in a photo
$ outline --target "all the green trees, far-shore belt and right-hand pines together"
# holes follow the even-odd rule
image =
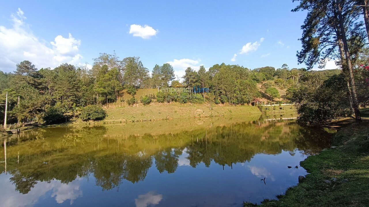
[[[14,73],[0,73],[0,91],[9,94],[9,119],[23,122],[42,117],[51,107],[58,109],[59,114],[74,114],[78,107],[87,105],[108,108],[109,103],[120,98],[123,89],[134,95],[138,88],[196,86],[209,88],[209,92],[158,92],[156,96],[132,97],[127,103],[149,104],[156,98],[158,102],[243,105],[259,98],[278,99],[277,88],[285,88],[283,98],[296,103],[303,123],[319,125],[338,116],[355,116],[361,122],[359,107],[369,99],[368,1],[293,1],[299,2],[293,12],[307,11],[301,26],[302,49],[297,52],[298,62],[305,63],[306,69],[289,69],[283,64],[279,69],[267,66],[249,70],[222,63],[208,70],[204,66],[197,71],[189,67],[180,83],[168,63],[155,65],[150,74],[139,57],[120,60],[115,53],[101,53],[90,70],[70,64],[38,70],[31,62],[23,61]],[[339,73],[310,71],[318,63],[324,67],[329,59],[338,60],[337,65],[342,68]],[[4,102],[4,98],[2,95],[0,101]],[[99,114],[95,108],[94,115]]]

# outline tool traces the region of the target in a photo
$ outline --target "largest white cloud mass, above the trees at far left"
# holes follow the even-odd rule
[[[36,67],[57,67],[62,63],[82,65],[82,55],[79,54],[81,41],[73,38],[56,36],[48,44],[32,34],[24,12],[18,8],[16,14],[11,14],[13,27],[0,25],[0,67],[5,71],[13,71],[15,65],[23,60],[29,60]]]

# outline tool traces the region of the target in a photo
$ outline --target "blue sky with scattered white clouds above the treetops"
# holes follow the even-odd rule
[[[291,0],[6,1],[0,7],[0,70],[13,71],[24,59],[38,68],[92,64],[99,53],[113,50],[121,59],[139,56],[149,70],[169,62],[178,76],[188,66],[222,62],[249,69],[304,67],[297,64],[296,51],[306,13],[292,13],[296,5]]]

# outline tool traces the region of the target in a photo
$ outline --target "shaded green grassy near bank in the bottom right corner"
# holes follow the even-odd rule
[[[363,110],[368,115],[369,110]],[[310,174],[260,207],[369,206],[369,122],[345,123],[331,149],[301,162]],[[258,206],[244,203],[244,207]]]

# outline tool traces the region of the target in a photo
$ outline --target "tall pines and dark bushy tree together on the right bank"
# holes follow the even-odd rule
[[[360,105],[368,93],[368,0],[293,0],[292,11],[307,11],[301,29],[299,63],[311,69],[324,66],[328,59],[338,60],[341,74],[321,80],[311,76],[294,93],[300,121],[321,125],[340,116],[355,116],[361,122]]]

